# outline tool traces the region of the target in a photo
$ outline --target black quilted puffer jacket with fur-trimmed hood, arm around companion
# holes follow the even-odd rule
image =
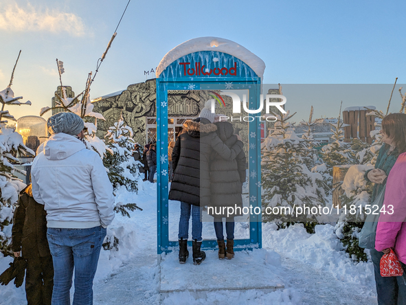
[[[216,134],[217,127],[205,118],[186,121],[172,152],[174,177],[169,199],[192,205],[210,203],[210,155],[215,151],[223,159],[235,159],[242,142],[229,148]]]

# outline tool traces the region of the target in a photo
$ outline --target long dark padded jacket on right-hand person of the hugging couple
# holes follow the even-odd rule
[[[215,123],[217,135],[229,148],[232,148],[238,141],[234,135],[234,128],[229,122]],[[243,144],[243,142],[240,142]],[[210,205],[214,209],[208,209],[210,215],[215,217],[226,217],[227,210],[223,214],[223,207],[240,207],[243,209],[242,185],[245,182],[245,157],[244,150],[237,155],[236,159],[223,159],[218,153],[213,152],[210,156]],[[217,208],[216,208],[217,207]],[[214,213],[212,211],[214,210]],[[220,212],[221,211],[221,212]],[[232,216],[239,216],[239,213]],[[230,216],[230,215],[228,215]]]

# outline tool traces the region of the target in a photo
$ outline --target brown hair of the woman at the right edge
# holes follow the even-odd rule
[[[382,120],[382,131],[394,141],[398,153],[406,152],[406,113],[391,113]]]

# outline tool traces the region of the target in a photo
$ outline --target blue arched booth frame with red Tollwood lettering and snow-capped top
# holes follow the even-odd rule
[[[258,109],[264,68],[263,61],[241,45],[215,37],[186,41],[168,52],[159,63],[156,80],[158,254],[178,247],[177,241],[169,240],[168,226],[168,91],[238,87],[249,92],[249,109]],[[249,204],[261,208],[260,120],[247,124]],[[234,242],[235,251],[261,247],[260,214],[249,216],[249,238]],[[203,249],[214,249],[216,245],[216,240],[205,240],[203,236]]]

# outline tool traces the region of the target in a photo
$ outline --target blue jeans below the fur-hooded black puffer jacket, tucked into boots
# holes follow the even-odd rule
[[[203,225],[200,221],[200,207],[181,202],[181,217],[179,218],[179,239],[189,238],[189,219],[192,212],[192,239],[201,241],[201,230]]]

